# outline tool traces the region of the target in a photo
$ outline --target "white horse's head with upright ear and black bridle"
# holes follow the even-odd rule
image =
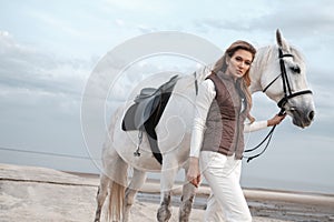
[[[307,87],[304,60],[278,30],[276,40],[277,46],[258,50],[254,63],[262,74],[255,83],[257,85],[250,89],[265,92],[279,108],[285,109],[295,125],[308,127],[314,119],[315,108]]]

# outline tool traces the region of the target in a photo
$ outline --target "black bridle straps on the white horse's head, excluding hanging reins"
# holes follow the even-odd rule
[[[293,54],[284,54],[282,49],[278,48],[278,58],[279,58],[279,67],[281,67],[281,74],[276,77],[264,90],[263,92],[266,92],[267,89],[279,78],[282,77],[283,81],[283,90],[284,90],[284,97],[277,102],[278,108],[281,108],[281,111],[284,112],[284,105],[288,102],[289,99],[302,95],[302,94],[312,94],[311,90],[302,90],[297,92],[293,92],[291,89],[291,84],[288,82],[288,78],[286,74],[285,63],[284,63],[284,57],[294,57]]]

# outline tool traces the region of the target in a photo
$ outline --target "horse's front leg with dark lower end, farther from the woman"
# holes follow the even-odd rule
[[[170,195],[177,171],[178,165],[175,157],[164,157],[160,179],[161,202],[157,213],[159,222],[167,222],[171,216]]]

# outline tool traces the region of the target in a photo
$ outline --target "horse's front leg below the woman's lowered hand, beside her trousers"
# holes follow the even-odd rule
[[[183,186],[181,204],[179,206],[179,212],[178,212],[179,222],[189,221],[195,193],[196,193],[195,185],[193,185],[186,180]]]

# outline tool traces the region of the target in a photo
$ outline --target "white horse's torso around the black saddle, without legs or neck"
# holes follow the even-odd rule
[[[168,81],[168,78],[166,77],[165,80],[164,78],[159,78],[156,81],[146,81],[148,84],[141,82],[134,90],[130,98],[136,98],[143,88],[163,84],[165,81]],[[178,162],[184,162],[188,157],[196,95],[195,84],[194,82],[189,82],[191,80],[194,80],[193,77],[183,77],[178,80],[159,123],[155,128],[163,159],[171,155]],[[121,129],[125,113],[132,104],[132,99],[129,99],[128,102],[121,104],[112,114],[114,121],[111,121],[109,127],[109,137],[114,138],[112,148],[131,167],[145,171],[159,171],[161,165],[153,157],[147,135],[144,133],[140,143],[140,157],[135,157],[134,152],[139,144],[139,131],[124,131]]]

